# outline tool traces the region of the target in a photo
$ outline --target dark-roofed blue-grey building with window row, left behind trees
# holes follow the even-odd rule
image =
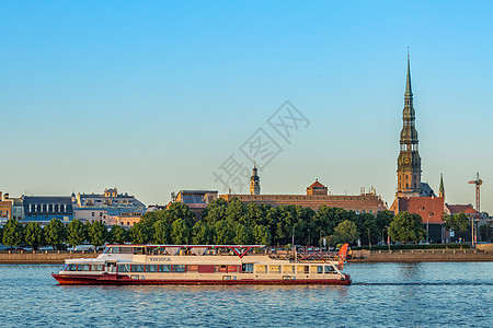
[[[48,223],[51,219],[69,223],[73,219],[73,208],[70,197],[24,196],[24,223]]]

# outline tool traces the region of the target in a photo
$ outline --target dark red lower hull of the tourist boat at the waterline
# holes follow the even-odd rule
[[[131,279],[124,274],[51,274],[59,284],[351,284],[349,276],[345,280],[337,279],[290,279],[290,280],[158,280]]]

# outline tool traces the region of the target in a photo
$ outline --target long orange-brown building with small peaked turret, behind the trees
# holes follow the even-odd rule
[[[318,210],[321,206],[342,208],[354,211],[357,214],[378,212],[387,210],[387,206],[375,189],[360,195],[329,195],[329,188],[316,180],[307,188],[307,195],[220,195],[220,198],[230,201],[238,198],[243,203],[254,202],[257,204],[271,204],[273,207],[296,204],[303,208]]]

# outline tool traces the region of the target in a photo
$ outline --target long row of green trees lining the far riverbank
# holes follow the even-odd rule
[[[455,231],[467,229],[466,214],[444,216],[446,227]],[[110,231],[95,221],[83,224],[72,220],[64,225],[51,220],[44,229],[35,222],[25,227],[15,220],[9,220],[1,241],[8,246],[39,245],[59,247],[89,242],[94,246],[104,243],[134,244],[262,244],[317,245],[325,238],[330,245],[375,243],[389,235],[395,242],[419,242],[425,231],[420,215],[400,212],[395,216],[383,211],[374,216],[370,213],[356,214],[341,208],[320,207],[319,211],[299,206],[272,207],[268,204],[244,204],[238,199],[213,201],[196,220],[186,204],[175,202],[169,209],[146,213],[129,231],[115,225]],[[380,238],[381,237],[381,238]]]

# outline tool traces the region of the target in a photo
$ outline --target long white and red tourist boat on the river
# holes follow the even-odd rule
[[[96,258],[66,259],[60,284],[342,284],[347,254],[264,255],[259,245],[107,245]]]

